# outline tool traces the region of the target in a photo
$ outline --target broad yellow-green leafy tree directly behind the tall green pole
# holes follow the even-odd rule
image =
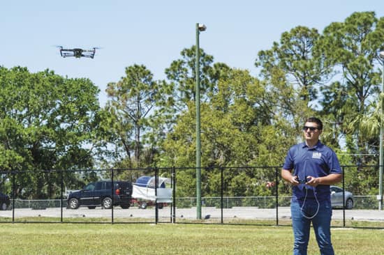
[[[279,132],[287,122],[280,123],[274,118],[274,101],[263,82],[251,77],[246,70],[228,69],[227,72],[223,71],[217,84],[212,98],[201,105],[202,166],[209,168],[280,164],[286,152],[281,144],[291,144],[288,143],[291,137],[285,137],[281,135],[283,132]],[[192,168],[195,160],[195,107],[193,102],[190,104],[179,115],[172,132],[168,133],[163,144],[162,157],[175,166]],[[281,150],[284,150],[283,153]],[[265,187],[256,181],[259,174],[263,175],[236,168],[226,172],[228,194],[241,193],[241,189],[235,187],[238,182],[230,181],[233,178],[239,182],[249,180]],[[220,176],[219,170],[203,170],[202,176],[202,183],[205,185],[203,190],[214,194],[218,183],[216,178]],[[274,172],[267,173],[264,177],[274,180]],[[182,178],[193,179],[194,171],[183,172]],[[186,180],[180,181],[186,183]],[[190,188],[193,189],[193,186]],[[245,189],[246,194],[256,190],[253,186]],[[186,188],[182,192],[193,194],[193,190],[187,192]]]

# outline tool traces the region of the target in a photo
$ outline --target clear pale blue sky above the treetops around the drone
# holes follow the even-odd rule
[[[0,7],[0,65],[53,70],[68,78],[86,77],[108,100],[109,82],[124,77],[126,67],[145,65],[154,80],[195,45],[231,68],[249,70],[260,50],[279,42],[295,26],[323,29],[344,22],[354,12],[384,16],[383,0],[13,0]],[[61,58],[59,48],[97,49],[94,59]]]

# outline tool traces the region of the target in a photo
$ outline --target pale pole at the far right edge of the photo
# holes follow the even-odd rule
[[[382,71],[381,71],[381,95],[379,97],[379,102],[381,102],[381,115],[380,115],[380,148],[379,148],[379,176],[378,176],[378,210],[383,209],[383,93],[384,93],[384,51],[378,54],[381,59]]]

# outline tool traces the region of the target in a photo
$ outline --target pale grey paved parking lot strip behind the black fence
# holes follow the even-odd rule
[[[196,208],[176,208],[175,217],[185,219],[196,219]],[[221,218],[221,209],[202,207],[202,218]],[[101,208],[88,209],[79,208],[71,210],[63,208],[63,217],[112,217],[112,210]],[[115,207],[113,217],[126,218],[155,218],[154,208],[145,210],[139,208],[121,209]],[[279,207],[277,211],[279,219],[290,219],[290,208]],[[47,208],[45,210],[33,209],[15,209],[14,215],[12,210],[0,211],[0,217],[61,217],[60,208]],[[158,210],[158,217],[171,217],[170,207]],[[343,219],[344,210],[333,210],[332,219]],[[355,220],[373,220],[384,221],[384,210],[345,210],[346,219]],[[239,219],[276,219],[276,209],[259,209],[253,207],[234,207],[223,209],[223,218],[239,218]]]

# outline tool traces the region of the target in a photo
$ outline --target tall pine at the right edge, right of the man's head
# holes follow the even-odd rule
[[[353,13],[344,22],[333,22],[320,40],[327,62],[339,72],[339,81],[323,87],[323,114],[339,123],[348,152],[375,154],[378,148],[378,104],[381,74],[378,51],[384,41],[384,19],[374,12]],[[368,131],[368,132],[367,132]],[[367,163],[371,157],[355,160]],[[358,161],[358,162],[359,162]]]

